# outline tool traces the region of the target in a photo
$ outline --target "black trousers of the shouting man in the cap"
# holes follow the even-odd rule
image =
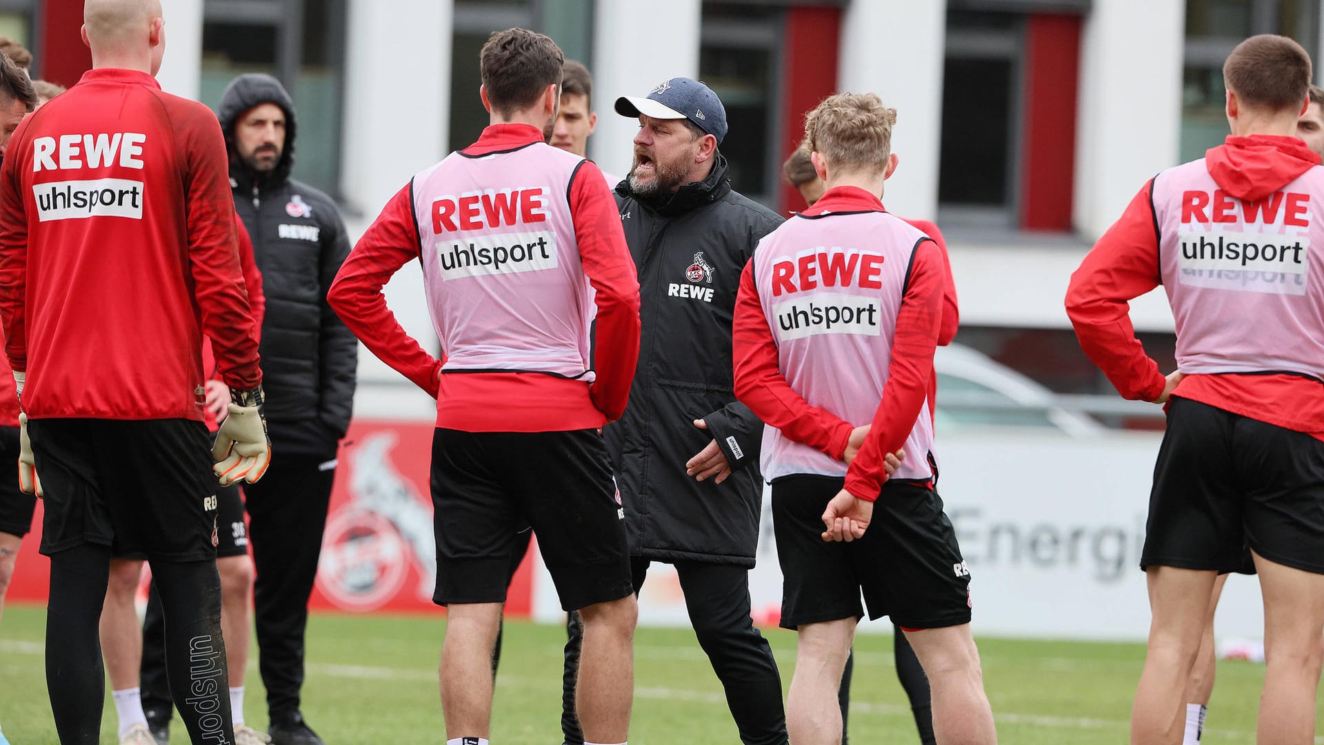
[[[630,559],[634,591],[643,586],[649,559]],[[749,618],[749,570],[728,563],[675,562],[699,647],[727,695],[727,708],[745,745],[785,745],[786,713],[781,705],[781,676],[772,647]],[[575,701],[575,677],[584,640],[583,627],[572,618],[565,644],[563,701]],[[572,725],[567,726],[567,724]],[[572,709],[563,711],[565,742],[581,745],[584,736]]]

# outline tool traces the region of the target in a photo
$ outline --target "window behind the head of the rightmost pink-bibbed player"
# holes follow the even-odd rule
[[[1186,0],[1180,160],[1204,158],[1227,137],[1223,61],[1233,48],[1247,36],[1280,33],[1315,58],[1319,25],[1320,4],[1311,0]]]

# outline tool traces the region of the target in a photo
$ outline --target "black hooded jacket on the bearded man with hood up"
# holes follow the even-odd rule
[[[233,135],[236,121],[261,103],[285,110],[285,151],[257,178],[236,154]],[[294,102],[275,78],[234,78],[218,117],[234,207],[253,237],[266,293],[261,354],[271,448],[335,457],[350,427],[359,342],[327,305],[327,289],[350,255],[350,236],[331,198],[290,178]]]

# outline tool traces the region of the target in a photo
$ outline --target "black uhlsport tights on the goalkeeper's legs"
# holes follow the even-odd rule
[[[97,745],[105,672],[97,624],[110,549],[83,545],[50,557],[46,687],[62,745]],[[152,562],[166,615],[166,668],[195,745],[233,745],[221,639],[221,581],[214,561]]]

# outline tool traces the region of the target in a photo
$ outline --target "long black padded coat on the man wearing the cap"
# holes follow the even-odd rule
[[[731,190],[720,154],[707,179],[674,195],[638,196],[629,182],[617,195],[639,272],[643,329],[630,403],[604,436],[630,551],[753,566],[763,423],[732,392],[731,323],[740,272],[781,217]],[[722,484],[685,473],[711,440],[732,465]]]

